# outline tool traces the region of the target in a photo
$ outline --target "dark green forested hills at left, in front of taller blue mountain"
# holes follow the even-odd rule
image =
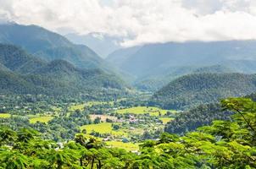
[[[17,46],[0,45],[1,93],[85,95],[108,98],[125,94],[125,83],[98,68],[81,69],[64,60],[49,63]],[[93,94],[93,95],[92,95]]]

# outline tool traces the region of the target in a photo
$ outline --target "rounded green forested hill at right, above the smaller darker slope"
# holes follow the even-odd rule
[[[184,109],[256,91],[256,74],[189,74],[154,93],[150,105]]]

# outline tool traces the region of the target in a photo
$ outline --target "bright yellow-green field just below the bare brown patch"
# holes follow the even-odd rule
[[[100,134],[114,134],[114,135],[126,135],[122,131],[114,131],[111,126],[112,123],[98,123],[98,124],[88,124],[81,126],[81,130],[86,129],[87,134],[91,134],[94,130]]]

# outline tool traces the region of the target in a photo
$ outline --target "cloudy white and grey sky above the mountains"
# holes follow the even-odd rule
[[[0,0],[0,21],[102,32],[122,46],[256,39],[256,0]]]

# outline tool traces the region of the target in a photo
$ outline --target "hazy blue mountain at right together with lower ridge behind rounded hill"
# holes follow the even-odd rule
[[[255,46],[256,41],[169,42],[120,49],[107,60],[136,77],[137,88],[154,91],[182,75],[216,73],[216,66],[218,73],[256,73]]]

